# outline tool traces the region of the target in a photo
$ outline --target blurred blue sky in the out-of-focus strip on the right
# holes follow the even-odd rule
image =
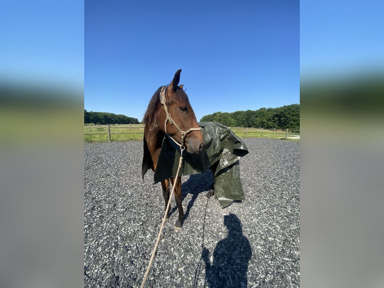
[[[300,1],[301,80],[382,73],[383,3]]]

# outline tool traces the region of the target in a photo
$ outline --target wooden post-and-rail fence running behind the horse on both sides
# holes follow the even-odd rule
[[[144,133],[143,124],[95,125],[85,126],[84,129],[84,135],[105,135],[108,138],[108,142],[111,141],[111,135],[132,135],[132,137],[138,140],[142,139],[142,136],[140,135],[143,135]],[[300,138],[300,130],[293,129],[231,127],[231,130],[233,130],[239,137],[271,137],[280,139],[292,137]]]

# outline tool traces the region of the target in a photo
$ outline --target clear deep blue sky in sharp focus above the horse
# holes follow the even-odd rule
[[[85,1],[88,111],[142,120],[180,84],[197,119],[299,103],[299,1]]]

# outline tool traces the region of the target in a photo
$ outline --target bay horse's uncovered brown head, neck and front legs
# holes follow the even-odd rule
[[[186,148],[187,153],[199,154],[203,149],[203,133],[196,120],[195,112],[183,90],[183,85],[178,86],[180,73],[181,69],[177,70],[169,85],[157,89],[144,114],[143,167],[144,161],[146,161],[145,165],[149,165],[153,172],[156,170],[157,160],[166,134],[179,146],[180,150]],[[169,181],[173,186],[175,178],[161,181],[165,207],[170,196]],[[179,231],[184,220],[184,211],[181,205],[181,177],[177,178],[174,196],[178,208],[178,219],[175,222],[174,230]],[[170,207],[166,219],[169,218],[169,210]]]

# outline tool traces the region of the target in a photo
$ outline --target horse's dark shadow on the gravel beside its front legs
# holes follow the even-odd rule
[[[203,174],[193,174],[190,175],[188,180],[181,184],[181,198],[184,201],[185,197],[188,194],[192,195],[192,198],[189,200],[188,205],[186,206],[186,211],[184,213],[184,221],[188,218],[190,208],[194,206],[196,199],[203,192],[210,190],[213,182],[213,176],[211,170],[206,171]],[[170,211],[169,215],[177,210],[175,205]]]

